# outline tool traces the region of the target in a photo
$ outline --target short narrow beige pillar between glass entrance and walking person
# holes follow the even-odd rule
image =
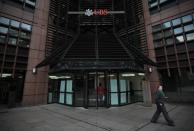
[[[142,89],[143,89],[144,106],[152,106],[152,97],[151,97],[151,90],[150,90],[149,81],[142,80]]]

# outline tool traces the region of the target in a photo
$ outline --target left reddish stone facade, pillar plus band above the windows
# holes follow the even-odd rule
[[[21,103],[23,106],[47,103],[47,67],[38,69],[36,74],[32,73],[32,69],[45,58],[48,10],[49,0],[37,0],[35,8],[24,7],[22,3],[9,0],[0,1],[0,16],[32,25],[29,55],[25,56],[28,58],[27,68],[22,70],[26,72]],[[19,69],[17,71],[20,72]]]

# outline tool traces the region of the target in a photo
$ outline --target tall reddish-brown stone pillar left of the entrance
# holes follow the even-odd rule
[[[49,0],[38,0],[33,18],[31,46],[24,84],[23,105],[47,103],[48,69],[39,68],[36,74],[32,69],[45,57]]]

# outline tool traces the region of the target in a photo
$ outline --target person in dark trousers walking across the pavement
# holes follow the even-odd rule
[[[168,112],[166,111],[166,107],[164,105],[164,101],[165,99],[167,99],[167,97],[165,96],[164,92],[163,92],[163,87],[160,85],[158,87],[158,90],[156,91],[156,99],[155,99],[155,103],[157,106],[157,110],[154,113],[151,122],[152,123],[156,123],[160,113],[162,112],[164,115],[164,118],[166,119],[166,121],[168,122],[169,126],[175,126],[174,125],[174,121],[169,117]]]

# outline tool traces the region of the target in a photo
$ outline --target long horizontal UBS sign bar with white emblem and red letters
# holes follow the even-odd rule
[[[108,9],[86,9],[86,11],[68,11],[68,14],[86,16],[106,16],[108,14],[124,14],[125,11],[108,11]]]

